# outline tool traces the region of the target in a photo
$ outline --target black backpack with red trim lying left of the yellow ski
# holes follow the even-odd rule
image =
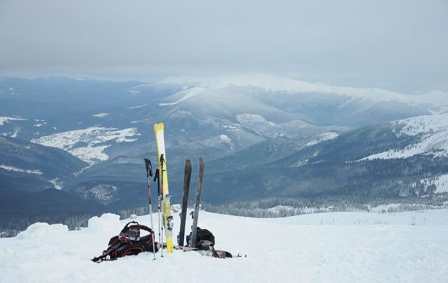
[[[130,225],[132,224],[132,225]],[[140,230],[150,234],[140,237]],[[152,249],[153,233],[151,228],[140,225],[138,222],[129,222],[121,230],[120,235],[110,238],[108,249],[103,251],[103,255],[94,257],[92,262],[102,262],[103,260],[116,260],[125,255],[137,255],[143,251],[156,253],[159,250],[157,242],[154,242],[155,251]],[[109,259],[106,257],[109,256]]]

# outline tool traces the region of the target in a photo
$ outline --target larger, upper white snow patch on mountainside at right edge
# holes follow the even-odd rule
[[[448,157],[448,114],[412,117],[392,123],[403,126],[400,133],[397,134],[398,136],[421,135],[421,138],[418,142],[409,144],[405,148],[376,153],[359,161],[408,158],[420,154]]]

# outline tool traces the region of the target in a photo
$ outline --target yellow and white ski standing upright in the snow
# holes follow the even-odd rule
[[[156,133],[157,157],[159,159],[159,182],[162,188],[162,210],[163,226],[165,226],[165,237],[167,253],[173,252],[173,217],[171,215],[170,191],[168,189],[167,163],[165,155],[165,137],[163,133],[163,123],[154,124]]]

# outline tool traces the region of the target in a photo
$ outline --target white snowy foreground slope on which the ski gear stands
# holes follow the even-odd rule
[[[149,215],[136,220],[150,224]],[[151,253],[141,253],[114,262],[91,262],[127,221],[105,214],[90,219],[89,227],[81,231],[68,231],[61,224],[33,224],[17,237],[0,239],[0,281],[446,282],[448,278],[448,209],[276,219],[202,211],[198,226],[214,233],[216,248],[247,257],[221,260],[174,251],[163,258],[159,252],[155,261]]]

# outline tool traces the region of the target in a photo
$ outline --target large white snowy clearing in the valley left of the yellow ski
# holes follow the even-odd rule
[[[31,142],[61,148],[92,165],[99,160],[109,159],[104,150],[111,146],[112,142],[135,142],[137,139],[130,137],[137,135],[139,134],[136,128],[119,130],[118,128],[90,127],[39,137],[32,139]]]

